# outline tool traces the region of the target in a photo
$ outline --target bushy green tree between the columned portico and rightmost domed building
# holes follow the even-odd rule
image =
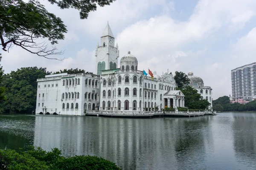
[[[185,107],[189,109],[205,110],[210,105],[207,99],[201,100],[201,95],[198,94],[198,91],[191,86],[187,86],[186,88],[177,88],[177,90],[182,91],[185,95]]]

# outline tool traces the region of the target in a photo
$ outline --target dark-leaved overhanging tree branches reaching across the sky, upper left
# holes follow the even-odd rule
[[[56,3],[61,9],[76,8],[80,18],[86,19],[90,11],[95,11],[97,5],[110,5],[115,0],[48,0]],[[32,54],[47,57],[55,52],[56,47],[48,49],[46,42],[37,42],[47,38],[52,45],[58,40],[64,40],[67,28],[61,18],[49,13],[39,0],[1,0],[0,1],[0,45],[3,51],[9,51],[13,45],[19,46]]]

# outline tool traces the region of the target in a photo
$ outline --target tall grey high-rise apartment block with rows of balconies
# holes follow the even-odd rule
[[[233,99],[256,99],[256,62],[231,70]]]

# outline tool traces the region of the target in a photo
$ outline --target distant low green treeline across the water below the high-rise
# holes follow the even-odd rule
[[[256,100],[244,104],[230,103],[228,96],[219,97],[212,101],[214,111],[256,111]]]

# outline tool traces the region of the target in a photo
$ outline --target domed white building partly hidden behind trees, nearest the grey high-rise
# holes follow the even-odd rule
[[[198,93],[201,95],[201,99],[207,99],[211,104],[209,109],[212,108],[212,88],[204,85],[203,79],[200,77],[194,76],[192,71],[189,71],[188,77],[190,79],[190,86],[198,90]]]

